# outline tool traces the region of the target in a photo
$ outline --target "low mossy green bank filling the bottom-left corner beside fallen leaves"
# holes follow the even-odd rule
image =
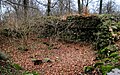
[[[0,75],[39,75],[39,73],[26,71],[19,64],[0,60]]]

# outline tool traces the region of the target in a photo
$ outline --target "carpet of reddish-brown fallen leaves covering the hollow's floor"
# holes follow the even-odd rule
[[[8,40],[8,39],[7,39]],[[88,43],[65,43],[49,39],[30,38],[28,50],[22,51],[21,40],[11,40],[1,44],[2,51],[10,55],[12,61],[28,71],[37,71],[40,75],[79,75],[84,66],[95,63],[95,52]],[[35,65],[32,59],[51,62]]]

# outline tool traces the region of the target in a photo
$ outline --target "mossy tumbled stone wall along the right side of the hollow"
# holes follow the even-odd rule
[[[120,53],[115,42],[119,40],[120,22],[111,15],[100,15],[101,24],[94,45],[97,50],[95,64],[84,67],[86,74],[107,75],[114,68],[120,69]]]

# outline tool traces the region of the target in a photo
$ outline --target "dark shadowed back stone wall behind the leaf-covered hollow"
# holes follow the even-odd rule
[[[49,24],[51,23],[51,24]],[[68,16],[66,20],[56,20],[45,23],[39,37],[57,37],[64,41],[91,41],[96,38],[93,32],[98,32],[100,24],[98,16]]]

